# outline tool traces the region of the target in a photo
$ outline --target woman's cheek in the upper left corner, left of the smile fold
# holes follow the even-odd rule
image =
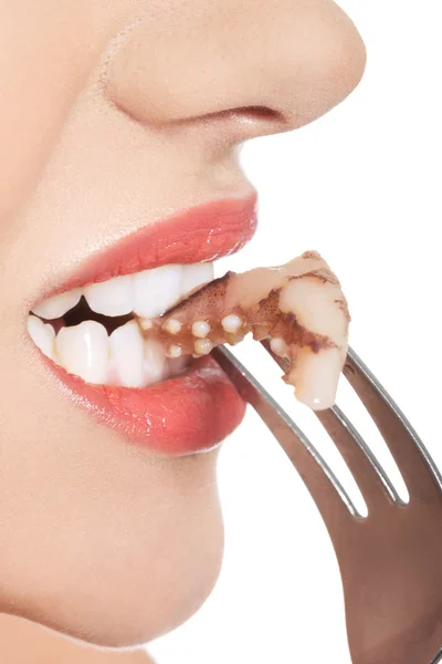
[[[0,3],[0,231],[38,184],[78,94],[139,1]]]

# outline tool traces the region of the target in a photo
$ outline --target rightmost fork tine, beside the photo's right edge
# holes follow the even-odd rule
[[[418,495],[434,498],[442,496],[442,477],[428,449],[403,413],[380,385],[354,350],[349,350],[344,374],[366,406],[409,488]]]

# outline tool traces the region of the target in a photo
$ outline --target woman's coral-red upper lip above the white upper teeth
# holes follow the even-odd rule
[[[256,194],[185,209],[88,257],[45,298],[167,263],[213,261],[239,251],[256,229]],[[43,298],[40,298],[41,301]]]

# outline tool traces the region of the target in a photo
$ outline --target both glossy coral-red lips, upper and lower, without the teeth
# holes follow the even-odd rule
[[[255,229],[255,195],[204,204],[130,234],[88,259],[50,294],[166,263],[211,261],[240,250]],[[160,454],[211,449],[232,433],[245,412],[244,402],[212,357],[146,388],[93,385],[42,357],[74,403],[129,442]]]

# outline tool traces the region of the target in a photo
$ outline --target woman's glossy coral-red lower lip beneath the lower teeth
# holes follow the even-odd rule
[[[92,385],[50,360],[64,392],[130,443],[181,456],[212,449],[241,423],[245,404],[210,356],[144,390]]]

